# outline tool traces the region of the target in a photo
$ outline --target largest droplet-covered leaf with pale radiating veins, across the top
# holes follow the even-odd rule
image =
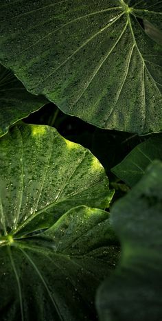
[[[0,12],[1,61],[29,91],[104,129],[162,130],[161,0],[2,0]]]

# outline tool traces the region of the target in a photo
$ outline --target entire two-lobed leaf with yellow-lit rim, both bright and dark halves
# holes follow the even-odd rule
[[[12,126],[0,149],[1,320],[95,320],[119,254],[104,168],[49,126]]]

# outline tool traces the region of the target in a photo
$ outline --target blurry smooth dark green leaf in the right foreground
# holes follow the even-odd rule
[[[119,267],[97,294],[101,321],[161,320],[162,163],[112,208],[122,243]]]

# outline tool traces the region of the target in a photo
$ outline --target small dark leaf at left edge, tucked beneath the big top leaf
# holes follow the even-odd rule
[[[11,71],[0,65],[0,137],[9,126],[37,111],[47,100],[29,93]]]

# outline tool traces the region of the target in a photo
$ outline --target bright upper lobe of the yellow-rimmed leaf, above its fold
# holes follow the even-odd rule
[[[76,206],[109,206],[113,190],[100,162],[56,129],[14,126],[0,151],[1,234],[49,228]]]

